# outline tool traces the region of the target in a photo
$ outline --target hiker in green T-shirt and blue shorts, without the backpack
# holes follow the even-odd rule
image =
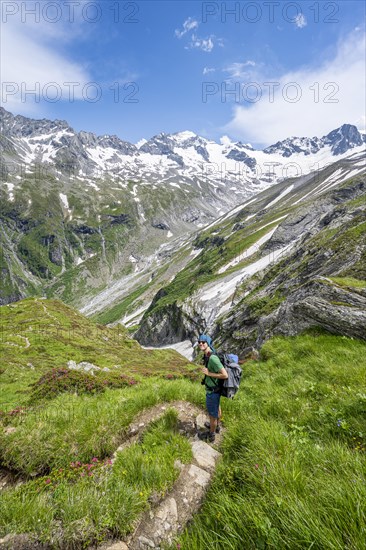
[[[228,374],[222,365],[220,359],[215,355],[212,346],[212,340],[207,334],[201,334],[198,337],[198,346],[204,353],[204,367],[202,369],[205,375],[202,383],[206,387],[206,408],[210,418],[209,431],[199,435],[200,439],[207,439],[211,443],[215,441],[215,433],[220,431],[219,419],[221,417],[220,408],[220,384],[219,380],[228,378]]]

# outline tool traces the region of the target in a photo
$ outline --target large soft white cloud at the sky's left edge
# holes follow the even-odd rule
[[[2,106],[10,111],[36,114],[44,108],[42,99],[49,104],[53,100],[82,99],[83,88],[92,79],[81,64],[60,53],[62,46],[79,35],[81,28],[82,21],[76,19],[72,26],[65,21],[50,23],[36,17],[28,17],[24,23],[20,12],[17,18],[3,19]]]

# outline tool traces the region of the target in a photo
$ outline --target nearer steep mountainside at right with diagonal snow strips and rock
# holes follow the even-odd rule
[[[244,354],[312,326],[366,338],[364,165],[355,156],[287,180],[198,234],[198,255],[156,294],[137,339],[209,330]]]

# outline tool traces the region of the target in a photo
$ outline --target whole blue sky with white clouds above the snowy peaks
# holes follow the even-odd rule
[[[133,143],[365,130],[361,0],[2,0],[1,27],[1,104],[14,114]]]

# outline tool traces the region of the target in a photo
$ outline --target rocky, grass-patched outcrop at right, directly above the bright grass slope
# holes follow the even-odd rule
[[[289,216],[266,247],[298,239],[296,248],[221,320],[217,336],[242,352],[310,327],[366,339],[365,193],[363,178]]]

